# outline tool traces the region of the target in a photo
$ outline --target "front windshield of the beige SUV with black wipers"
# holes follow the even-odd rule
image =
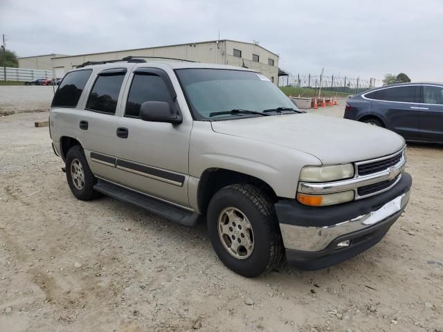
[[[260,73],[190,68],[178,69],[177,75],[197,120],[260,116],[252,112],[278,107],[298,110],[275,84]]]

